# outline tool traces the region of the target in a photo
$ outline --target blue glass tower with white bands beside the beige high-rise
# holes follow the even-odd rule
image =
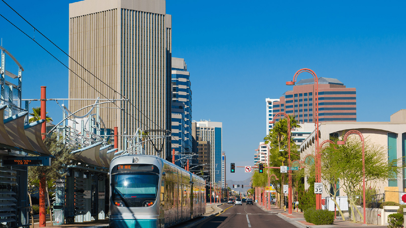
[[[172,108],[183,104],[183,123],[173,115],[172,110],[172,149],[175,149],[175,160],[185,166],[187,158],[192,159],[192,90],[190,89],[190,73],[184,59],[172,58]],[[181,111],[181,110],[178,110]]]

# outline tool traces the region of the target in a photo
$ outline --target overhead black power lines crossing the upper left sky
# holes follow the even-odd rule
[[[154,121],[152,121],[152,119],[149,119],[149,117],[147,115],[145,115],[143,112],[141,112],[134,104],[132,104],[132,102],[130,102],[130,100],[128,100],[125,96],[123,96],[121,93],[117,92],[117,90],[115,90],[114,88],[112,88],[110,85],[108,85],[107,83],[105,83],[104,81],[102,81],[101,79],[99,79],[99,77],[97,77],[96,75],[94,75],[92,72],[90,72],[88,69],[86,69],[84,66],[82,66],[80,63],[78,63],[75,59],[73,59],[68,53],[66,53],[65,51],[63,51],[60,47],[58,47],[58,45],[56,45],[54,42],[52,42],[47,36],[45,36],[42,32],[40,32],[37,28],[35,28],[30,22],[28,22],[22,15],[20,15],[17,11],[15,11],[15,9],[13,9],[13,7],[11,7],[9,4],[7,4],[7,2],[5,2],[4,0],[2,0],[2,2],[4,2],[4,4],[6,4],[7,6],[10,7],[10,9],[12,9],[15,13],[17,13],[17,15],[19,15],[22,19],[24,19],[24,21],[26,21],[32,28],[34,28],[34,31],[37,30],[37,32],[39,32],[39,34],[41,34],[43,37],[45,37],[49,42],[51,42],[55,47],[57,47],[60,51],[62,51],[65,55],[67,55],[71,60],[73,60],[76,64],[78,64],[80,67],[82,67],[85,71],[89,72],[90,75],[92,75],[93,77],[95,77],[97,80],[101,81],[104,85],[106,85],[107,87],[109,87],[110,89],[112,89],[115,93],[119,94],[121,97],[123,97],[124,99],[127,100],[128,103],[130,103],[132,105],[132,107],[134,107],[138,112],[140,112],[142,115],[144,115],[149,121],[151,121],[153,124],[155,124],[156,126],[158,126],[158,128],[161,128],[158,124],[156,124]],[[4,19],[6,19],[3,15],[1,15]],[[7,19],[6,19],[7,20]],[[7,20],[9,21],[9,20]],[[9,21],[9,23],[11,23],[11,21]],[[13,23],[11,23],[15,28],[17,28],[18,30],[20,30],[22,33],[26,34],[25,32],[23,32],[21,29],[19,29],[17,26],[15,26]],[[26,34],[26,36],[28,36]],[[31,38],[30,36],[28,36],[29,38]],[[35,41],[35,39],[31,38],[35,43],[37,43],[37,41]],[[42,47],[39,43],[37,43],[40,47]],[[45,51],[47,51],[44,47],[42,47]],[[47,51],[50,55],[52,55],[49,51]],[[52,57],[54,57],[56,60],[58,60],[54,55],[52,55]],[[60,62],[58,60],[58,62]],[[61,64],[63,64],[62,62],[60,62]],[[86,80],[84,80],[82,77],[80,77],[78,74],[76,74],[75,72],[73,72],[73,70],[71,70],[68,66],[66,66],[65,64],[63,64],[66,68],[68,68],[73,74],[75,74],[76,76],[78,76],[80,79],[82,79],[83,81],[85,81],[88,85],[90,85]],[[95,89],[92,85],[90,85],[93,89]],[[99,92],[97,89],[95,89],[97,92]],[[99,92],[100,94],[102,94],[101,92]],[[104,96],[102,94],[102,96]],[[106,97],[106,96],[104,96]],[[107,97],[106,97],[107,98]],[[118,105],[116,104],[116,106],[118,107]],[[124,109],[123,109],[124,110]],[[126,111],[124,111],[125,113],[127,113]],[[129,113],[127,113],[128,115],[130,115]],[[136,119],[134,116],[130,115],[131,117],[133,117],[134,119]],[[136,119],[138,120],[138,119]],[[139,120],[138,120],[139,121]],[[164,130],[161,128],[161,130]]]

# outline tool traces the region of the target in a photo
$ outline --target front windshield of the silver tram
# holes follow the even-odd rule
[[[156,198],[159,175],[151,172],[112,175],[113,198]]]

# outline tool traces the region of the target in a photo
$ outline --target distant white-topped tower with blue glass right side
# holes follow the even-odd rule
[[[210,142],[210,182],[221,184],[222,122],[197,121],[196,135]]]

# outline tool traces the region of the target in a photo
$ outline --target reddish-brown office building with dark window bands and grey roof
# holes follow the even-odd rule
[[[341,81],[319,77],[319,121],[356,121],[356,89]],[[302,79],[273,102],[273,112],[296,116],[299,123],[314,123],[314,79]],[[276,117],[278,121],[281,117]]]

